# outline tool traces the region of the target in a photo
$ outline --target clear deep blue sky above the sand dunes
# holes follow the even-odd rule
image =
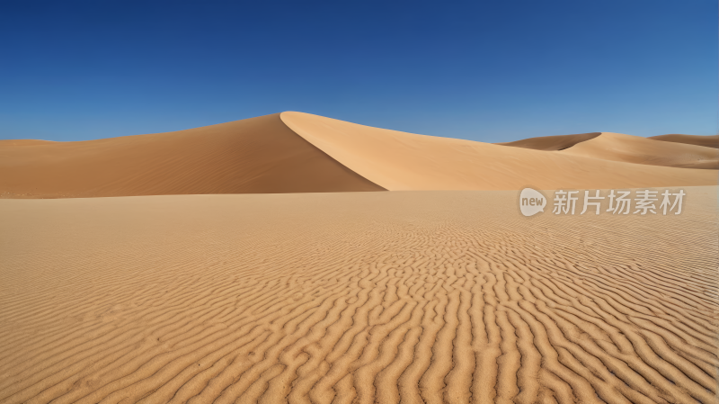
[[[508,141],[712,135],[715,0],[4,1],[0,139],[282,111]]]

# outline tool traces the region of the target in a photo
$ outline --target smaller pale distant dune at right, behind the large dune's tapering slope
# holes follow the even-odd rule
[[[719,150],[604,132],[558,153],[652,166],[719,169]]]

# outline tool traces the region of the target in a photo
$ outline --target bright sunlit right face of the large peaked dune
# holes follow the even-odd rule
[[[377,129],[302,112],[288,127],[387,190],[510,190],[714,185],[710,170],[644,166]],[[580,143],[581,144],[581,143]]]

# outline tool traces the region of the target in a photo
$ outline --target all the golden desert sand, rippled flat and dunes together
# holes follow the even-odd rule
[[[0,403],[719,403],[706,150],[300,112],[0,141]],[[560,187],[686,196],[555,215]]]

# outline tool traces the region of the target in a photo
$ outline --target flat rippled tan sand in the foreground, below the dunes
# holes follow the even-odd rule
[[[717,402],[717,187],[684,190],[648,217],[524,218],[502,191],[0,201],[0,402]]]

